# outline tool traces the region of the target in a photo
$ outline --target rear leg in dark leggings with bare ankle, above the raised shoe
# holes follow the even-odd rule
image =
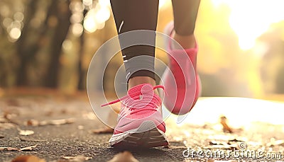
[[[195,47],[195,21],[200,0],[172,0],[174,29],[173,38],[184,49]]]

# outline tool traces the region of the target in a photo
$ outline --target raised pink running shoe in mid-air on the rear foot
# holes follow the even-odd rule
[[[173,35],[173,22],[165,28],[165,34]],[[171,40],[168,40],[167,52],[169,56],[169,69],[163,74],[165,92],[164,105],[175,115],[185,115],[192,110],[201,92],[200,78],[196,70],[197,45],[186,50],[173,50]],[[190,64],[191,62],[191,64]],[[193,66],[194,69],[191,67]],[[194,79],[195,83],[192,83]]]

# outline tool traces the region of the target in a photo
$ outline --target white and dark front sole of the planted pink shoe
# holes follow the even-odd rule
[[[165,133],[158,129],[153,121],[146,120],[136,129],[112,135],[111,139],[109,139],[109,144],[118,148],[151,148],[167,146],[168,141]]]

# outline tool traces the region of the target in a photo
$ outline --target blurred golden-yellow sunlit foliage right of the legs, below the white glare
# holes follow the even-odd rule
[[[256,39],[256,45],[241,50],[239,35],[229,22],[231,8],[225,4],[216,6],[213,2],[201,1],[195,29],[202,96],[268,98],[274,93],[284,93],[284,19],[272,23],[269,30]],[[173,18],[168,16],[169,9],[170,5],[160,11],[160,32]],[[251,12],[253,10],[251,8]],[[253,26],[254,20],[250,23],[247,25]]]

